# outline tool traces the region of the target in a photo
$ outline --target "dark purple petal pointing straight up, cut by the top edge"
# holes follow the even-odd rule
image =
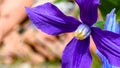
[[[80,18],[83,23],[91,26],[98,16],[98,6],[100,0],[76,0],[80,7]]]

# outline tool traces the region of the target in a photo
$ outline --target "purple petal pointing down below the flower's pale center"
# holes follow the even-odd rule
[[[85,40],[73,38],[63,52],[62,68],[90,68],[89,43],[89,37]]]

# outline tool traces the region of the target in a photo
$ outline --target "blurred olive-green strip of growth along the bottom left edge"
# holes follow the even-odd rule
[[[0,64],[0,68],[61,68],[60,60],[55,61],[47,61],[45,63],[40,64],[31,64],[29,62],[23,62],[22,59],[18,58],[11,65]]]

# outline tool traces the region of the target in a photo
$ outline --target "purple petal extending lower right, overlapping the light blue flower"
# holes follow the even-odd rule
[[[97,49],[114,66],[120,66],[120,35],[92,27],[92,37]]]

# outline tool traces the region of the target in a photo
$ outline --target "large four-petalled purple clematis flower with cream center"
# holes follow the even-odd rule
[[[120,66],[120,35],[92,25],[97,21],[99,0],[75,0],[80,8],[81,21],[66,16],[51,3],[27,8],[29,18],[37,28],[50,35],[74,32],[62,55],[62,68],[90,68],[90,35],[97,49],[110,64]]]

